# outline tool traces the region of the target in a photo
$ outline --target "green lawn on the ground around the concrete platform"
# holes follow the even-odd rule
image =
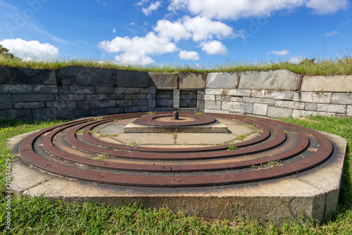
[[[296,125],[337,134],[352,144],[352,119],[325,117],[284,119]],[[13,195],[12,230],[4,224],[4,161],[12,158],[6,140],[12,136],[56,125],[52,122],[0,122],[0,232],[2,234],[352,234],[352,153],[348,152],[337,215],[322,225],[291,223],[276,226],[255,220],[206,220],[172,213],[168,208],[142,208],[138,203],[114,207],[94,203],[65,203],[48,198]]]

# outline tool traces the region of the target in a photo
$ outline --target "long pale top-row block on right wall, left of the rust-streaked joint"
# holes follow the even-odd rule
[[[288,70],[242,72],[239,89],[285,89],[294,90],[298,75]]]

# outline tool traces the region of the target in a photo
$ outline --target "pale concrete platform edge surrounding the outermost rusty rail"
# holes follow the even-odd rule
[[[334,145],[326,163],[281,179],[233,186],[161,189],[95,184],[68,179],[29,167],[18,154],[18,146],[30,133],[10,139],[13,160],[11,189],[15,193],[69,202],[125,205],[139,201],[151,208],[168,208],[212,219],[256,218],[259,222],[285,220],[322,222],[334,213],[339,199],[346,140],[320,132]]]

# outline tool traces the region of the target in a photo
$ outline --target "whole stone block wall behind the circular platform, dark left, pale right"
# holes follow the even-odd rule
[[[46,120],[181,111],[270,118],[352,116],[352,76],[268,72],[148,73],[0,67],[0,119]]]

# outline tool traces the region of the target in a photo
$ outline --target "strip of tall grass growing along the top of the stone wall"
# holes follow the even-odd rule
[[[322,59],[320,61],[304,60],[299,64],[283,62],[261,62],[261,63],[220,63],[217,65],[120,65],[114,61],[94,61],[83,58],[56,59],[56,60],[30,60],[0,57],[0,66],[34,68],[34,69],[61,69],[68,66],[83,66],[96,68],[109,68],[115,70],[130,70],[143,72],[244,72],[244,71],[268,71],[268,70],[290,70],[301,75],[352,75],[352,57]]]

